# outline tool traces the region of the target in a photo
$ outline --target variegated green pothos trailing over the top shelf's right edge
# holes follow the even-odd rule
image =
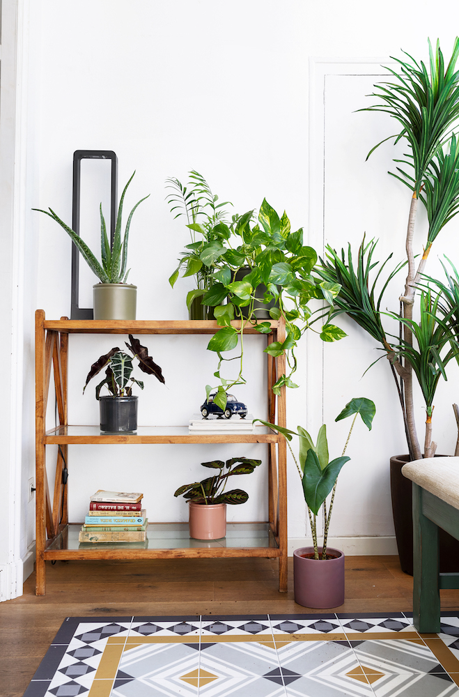
[[[225,230],[228,249],[222,251],[214,260],[216,270],[212,273],[212,286],[203,296],[204,305],[214,308],[214,315],[221,329],[210,339],[208,349],[215,351],[219,365],[215,377],[217,386],[206,385],[207,398],[212,390],[217,390],[215,403],[223,410],[226,406],[226,392],[234,385],[245,383],[242,374],[244,354],[244,328],[248,323],[255,325],[258,332],[268,334],[269,322],[258,321],[254,314],[254,303],[271,303],[272,319],[283,317],[286,321],[286,339],[272,342],[265,348],[265,353],[277,357],[286,353],[288,374],[279,376],[273,386],[279,395],[281,387],[296,388],[292,376],[297,367],[295,347],[306,329],[328,316],[334,307],[334,298],[339,293],[339,284],[311,275],[317,261],[317,254],[312,247],[303,244],[303,231],[290,229],[290,220],[284,212],[281,217],[268,204],[266,199],[260,206],[258,222],[255,222],[254,210],[244,215],[233,216],[233,221]],[[221,227],[226,228],[222,223]],[[244,278],[236,280],[238,272],[244,270]],[[264,286],[263,296],[258,289]],[[311,300],[324,300],[327,309],[322,306],[315,311],[309,307]],[[244,312],[243,312],[244,309]],[[240,324],[234,325],[233,320]],[[345,337],[345,332],[325,321],[318,331],[320,338],[326,342]],[[313,329],[314,330],[314,329]],[[240,346],[240,355],[225,358],[223,353]],[[226,360],[238,360],[239,371],[235,378],[227,379],[221,375],[221,365]]]

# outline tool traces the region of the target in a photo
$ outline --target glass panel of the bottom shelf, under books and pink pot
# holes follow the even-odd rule
[[[226,537],[192,539],[188,523],[150,523],[146,542],[79,542],[80,523],[70,524],[54,539],[46,551],[104,549],[278,549],[269,523],[227,523]]]

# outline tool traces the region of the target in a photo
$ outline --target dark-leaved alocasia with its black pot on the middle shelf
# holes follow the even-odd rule
[[[129,335],[130,344],[125,342],[134,358],[139,361],[139,368],[147,375],[154,375],[164,384],[164,377],[159,365],[148,355],[148,348],[141,346],[139,339]],[[143,390],[143,382],[132,377],[132,357],[120,351],[118,346],[111,348],[109,353],[101,355],[93,363],[86,376],[83,388],[86,390],[92,378],[107,367],[105,377],[95,388],[95,399],[100,404],[100,430],[103,433],[132,433],[137,431],[137,395],[132,395],[132,387],[136,384]],[[107,387],[109,395],[100,396],[102,387]]]

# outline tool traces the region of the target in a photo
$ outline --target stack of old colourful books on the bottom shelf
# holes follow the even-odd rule
[[[148,518],[143,493],[103,491],[91,496],[79,542],[146,542]]]

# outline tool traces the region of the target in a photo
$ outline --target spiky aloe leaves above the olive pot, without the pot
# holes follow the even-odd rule
[[[134,172],[135,174],[135,172]],[[134,176],[132,174],[132,177]],[[142,201],[148,199],[148,196],[143,197],[140,201],[135,204],[132,208],[129,216],[127,217],[127,222],[125,226],[124,235],[121,235],[122,227],[122,215],[123,215],[123,202],[127,187],[132,181],[132,177],[127,182],[124,187],[123,194],[121,194],[120,204],[118,206],[118,215],[116,216],[116,226],[113,247],[110,246],[109,238],[107,236],[107,226],[105,224],[104,215],[102,213],[102,204],[100,204],[100,256],[101,262],[98,261],[95,254],[91,252],[88,245],[81,239],[77,233],[68,227],[68,225],[61,220],[61,218],[54,213],[52,208],[48,210],[41,210],[40,208],[33,208],[32,210],[38,210],[40,213],[45,213],[49,215],[52,220],[55,220],[59,225],[65,230],[66,233],[72,238],[79,252],[83,256],[84,260],[88,263],[91,271],[100,279],[101,283],[125,283],[127,281],[127,275],[130,269],[127,269],[127,244],[129,242],[129,230],[132,220],[132,215],[134,215],[134,210],[141,204]]]

